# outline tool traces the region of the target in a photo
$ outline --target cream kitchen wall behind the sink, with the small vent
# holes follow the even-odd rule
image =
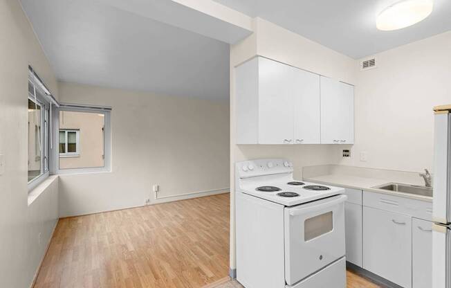
[[[351,159],[338,163],[432,170],[432,107],[451,103],[451,31],[379,53],[376,61],[376,69],[358,71],[356,144]]]

